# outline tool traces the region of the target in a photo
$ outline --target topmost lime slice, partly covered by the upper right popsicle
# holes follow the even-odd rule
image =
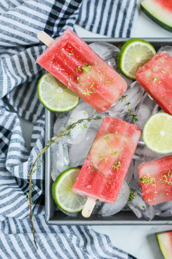
[[[136,79],[138,68],[148,63],[155,54],[154,47],[148,41],[129,39],[118,54],[118,68],[124,76]]]

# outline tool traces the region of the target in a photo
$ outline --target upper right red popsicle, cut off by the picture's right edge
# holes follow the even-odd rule
[[[137,82],[161,109],[172,115],[172,57],[159,52],[136,73]]]

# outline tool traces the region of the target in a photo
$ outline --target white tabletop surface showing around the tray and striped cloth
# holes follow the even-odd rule
[[[75,26],[80,37],[104,37]],[[135,33],[138,38],[171,38],[172,33],[152,22],[140,11]],[[31,139],[32,124],[21,119],[23,137],[27,147]],[[109,235],[112,244],[134,255],[138,259],[163,259],[156,240],[156,232],[172,229],[172,226],[93,226],[97,232]]]

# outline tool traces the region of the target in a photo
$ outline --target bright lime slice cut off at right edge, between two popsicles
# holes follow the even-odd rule
[[[153,114],[143,128],[143,141],[152,151],[160,154],[172,152],[172,116]]]

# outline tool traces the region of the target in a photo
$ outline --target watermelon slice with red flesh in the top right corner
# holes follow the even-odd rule
[[[171,0],[144,0],[140,8],[155,23],[172,32]]]

